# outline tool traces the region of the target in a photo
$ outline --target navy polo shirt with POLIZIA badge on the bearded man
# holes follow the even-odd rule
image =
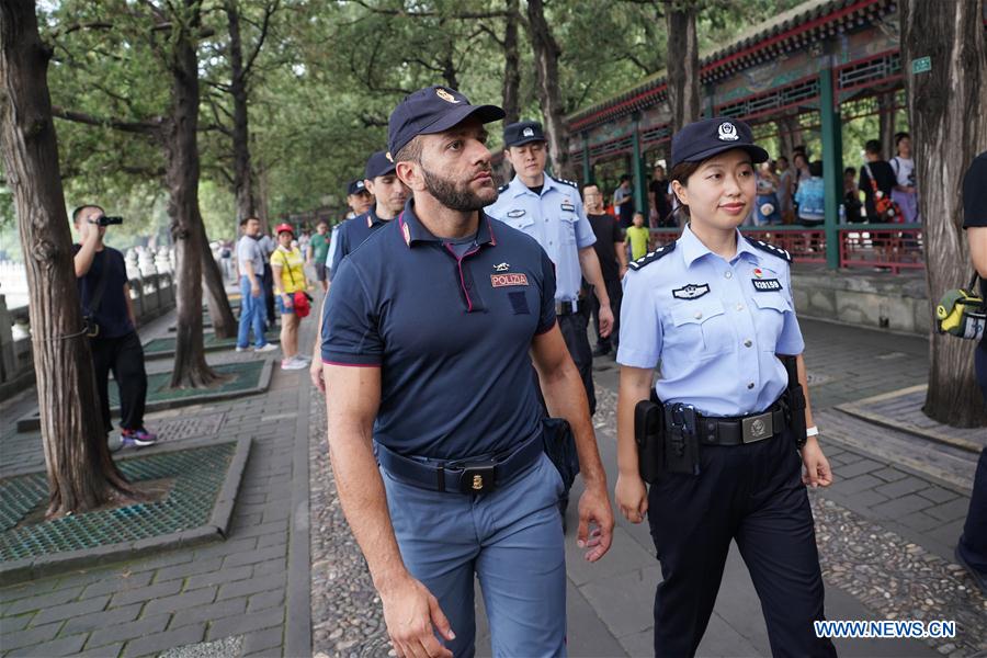
[[[554,266],[533,238],[481,214],[457,257],[409,201],[337,273],[322,361],[381,368],[375,441],[408,456],[479,457],[541,431],[529,350],[554,326]]]

